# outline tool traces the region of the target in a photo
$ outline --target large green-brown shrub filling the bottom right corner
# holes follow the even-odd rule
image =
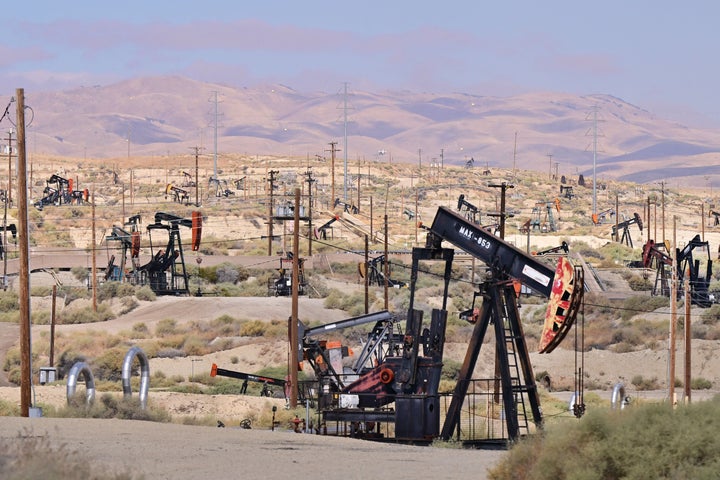
[[[720,470],[720,402],[623,411],[592,409],[526,437],[489,471],[491,480],[711,479]]]

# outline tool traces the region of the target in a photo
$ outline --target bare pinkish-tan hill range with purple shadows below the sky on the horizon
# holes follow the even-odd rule
[[[27,92],[30,151],[74,157],[204,153],[556,169],[638,182],[706,182],[717,132],[690,129],[610,95],[542,92],[498,98],[408,91],[299,92],[149,77],[62,92]],[[217,100],[217,103],[216,103]],[[347,123],[344,119],[347,118]],[[594,142],[597,140],[597,146]]]

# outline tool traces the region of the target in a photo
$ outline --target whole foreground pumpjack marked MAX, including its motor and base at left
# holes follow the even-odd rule
[[[448,288],[454,249],[449,242],[487,264],[490,274],[479,291],[472,337],[441,428],[438,392]],[[549,299],[540,351],[551,352],[567,335],[583,299],[583,271],[560,256],[553,268],[546,257],[534,257],[440,207],[429,227],[425,247],[412,250],[409,309],[404,333],[399,317],[387,311],[354,317],[329,325],[298,326],[300,365],[307,361],[316,376],[318,422],[325,429],[370,439],[428,443],[457,438],[471,444],[486,434],[515,440],[542,424],[539,396],[525,337],[520,325],[516,283]],[[445,263],[443,301],[431,312],[427,327],[416,310],[415,290],[421,262]],[[328,335],[374,324],[363,351],[348,365],[352,352]],[[488,329],[495,337],[497,375],[473,379],[473,371]],[[584,408],[584,405],[583,405]],[[482,424],[482,426],[481,426]],[[348,427],[349,426],[349,427]],[[349,430],[348,430],[349,428]],[[491,433],[490,433],[491,432]],[[479,438],[482,437],[482,438]]]

